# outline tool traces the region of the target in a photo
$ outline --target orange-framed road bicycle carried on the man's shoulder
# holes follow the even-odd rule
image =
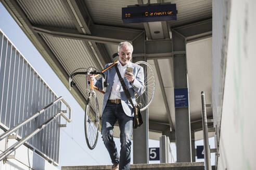
[[[103,78],[103,87],[106,88],[108,84],[105,82],[106,76],[104,72],[106,72],[109,68],[116,65],[118,61],[115,61],[113,64],[111,64],[109,67],[105,68],[104,70],[101,70],[99,72],[96,68],[94,68],[94,71],[87,71],[87,72],[75,72],[78,69],[73,71],[73,73],[69,77],[69,89],[71,90],[71,87],[75,86],[75,83],[73,82],[73,77],[75,75],[87,75],[92,74],[95,75],[94,78],[99,79],[100,75]],[[145,86],[145,92],[138,96],[136,95],[136,102],[140,105],[141,111],[145,110],[152,102],[153,96],[155,95],[156,90],[156,78],[155,74],[153,73],[152,67],[144,61],[136,62],[135,64],[138,64],[144,68],[144,86]],[[93,68],[93,67],[89,67]],[[83,69],[89,69],[89,68],[83,68]],[[146,75],[146,76],[145,76]],[[87,80],[86,80],[87,81]],[[90,81],[90,88],[88,90],[88,97],[85,105],[85,118],[84,118],[84,130],[85,130],[85,139],[86,144],[89,149],[94,149],[97,140],[98,140],[98,130],[100,125],[100,116],[99,116],[99,105],[97,96],[94,90],[97,90],[104,94],[104,90],[99,90],[97,87],[93,86],[93,80]]]

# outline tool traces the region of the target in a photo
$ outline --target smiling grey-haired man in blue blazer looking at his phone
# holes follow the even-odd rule
[[[132,102],[136,105],[135,93],[140,95],[145,90],[144,72],[143,67],[131,62],[132,52],[133,46],[128,41],[124,41],[118,45],[118,69],[131,95]],[[105,68],[111,64],[107,64]],[[104,94],[101,135],[113,163],[112,169],[130,169],[133,107],[125,95],[116,69],[111,67],[105,74],[109,85]],[[88,81],[92,79],[93,75],[87,76]],[[102,84],[102,79],[94,81],[94,85],[99,90],[103,89]],[[118,121],[120,129],[120,156],[113,140],[113,127],[116,121]]]

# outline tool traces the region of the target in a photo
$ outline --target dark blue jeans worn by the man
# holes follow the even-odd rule
[[[120,129],[120,158],[113,140],[113,127],[117,120]],[[122,104],[107,103],[101,117],[101,135],[112,163],[119,163],[119,169],[130,169],[132,133],[133,118],[124,113]]]

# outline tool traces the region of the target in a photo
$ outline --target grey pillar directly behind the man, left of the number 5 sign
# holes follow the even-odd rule
[[[133,41],[133,53],[145,53],[145,34]],[[142,58],[133,58],[133,63],[145,61]],[[148,109],[142,111],[143,125],[133,130],[133,163],[148,163]]]

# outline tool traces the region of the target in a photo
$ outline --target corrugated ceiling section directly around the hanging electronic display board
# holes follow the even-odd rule
[[[168,21],[171,27],[193,23],[212,18],[212,1],[211,0],[164,0],[164,3],[176,4],[178,10],[177,20]],[[143,1],[144,4],[147,1]],[[151,1],[157,3],[157,1]],[[137,0],[129,1],[85,1],[87,9],[95,24],[113,25],[122,27],[131,27],[134,29],[144,29],[142,23],[123,24],[122,7],[138,4]]]

